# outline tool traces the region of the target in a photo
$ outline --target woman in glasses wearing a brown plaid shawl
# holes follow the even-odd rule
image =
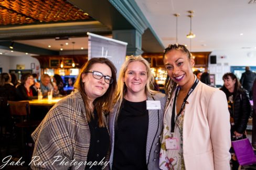
[[[110,137],[105,116],[112,109],[115,74],[113,63],[104,58],[93,58],[82,67],[74,92],[51,108],[32,134],[32,168],[101,169],[107,165]]]

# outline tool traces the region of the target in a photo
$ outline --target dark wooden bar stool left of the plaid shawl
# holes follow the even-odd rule
[[[14,128],[16,127],[21,131],[22,155],[25,155],[25,161],[30,161],[31,153],[29,153],[28,149],[30,147],[30,149],[32,148],[31,150],[33,151],[34,146],[34,142],[30,135],[37,128],[41,121],[29,120],[30,107],[28,101],[7,101],[7,103],[9,114],[14,120]],[[32,145],[29,146],[29,143]],[[28,154],[25,154],[25,150]]]

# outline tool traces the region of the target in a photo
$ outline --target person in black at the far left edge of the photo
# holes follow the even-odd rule
[[[16,88],[10,83],[11,80],[12,77],[10,77],[9,73],[0,74],[0,96],[7,97],[7,100],[16,101]]]

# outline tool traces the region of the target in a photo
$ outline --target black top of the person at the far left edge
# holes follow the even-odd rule
[[[16,88],[13,85],[6,83],[3,86],[0,86],[0,96],[7,97],[7,100],[10,100],[10,101],[16,101],[17,100]]]

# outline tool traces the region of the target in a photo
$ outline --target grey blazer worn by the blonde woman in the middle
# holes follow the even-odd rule
[[[153,98],[154,97],[154,98]],[[166,97],[162,93],[156,93],[152,97],[151,94],[147,95],[147,100],[160,100],[160,110],[148,110],[148,130],[147,130],[147,145],[146,145],[146,163],[149,170],[159,169],[159,151],[161,143],[163,116]],[[109,130],[111,138],[111,153],[110,153],[110,169],[112,169],[113,153],[114,153],[114,127],[116,120],[117,107],[119,103],[114,106],[113,112],[109,115]]]

